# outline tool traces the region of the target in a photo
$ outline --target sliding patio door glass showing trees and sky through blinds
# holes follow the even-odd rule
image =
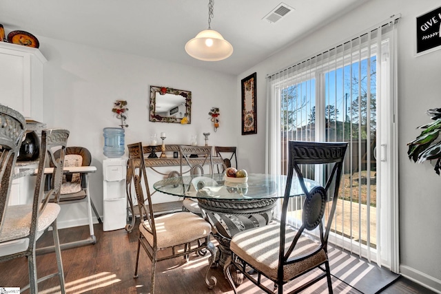
[[[285,81],[280,90],[280,131],[282,132],[281,172],[287,174],[287,142],[289,140],[317,140],[320,121],[323,122],[325,140],[345,141],[349,149],[345,158],[341,200],[336,209],[333,232],[349,240],[367,243],[376,248],[376,216],[370,212],[367,229],[367,205],[376,207],[376,56],[367,56],[367,50],[357,51],[314,68],[322,75],[320,92],[316,93],[316,76],[305,76],[294,83]],[[374,50],[371,50],[374,52]],[[331,54],[332,55],[332,54]],[[320,96],[322,93],[322,96]],[[316,100],[316,95],[321,99]],[[322,105],[322,106],[321,106]],[[320,109],[320,107],[322,107]],[[317,115],[321,115],[322,118]],[[324,171],[327,172],[327,171]],[[305,177],[315,179],[315,167],[304,167]],[[301,218],[304,199],[291,200],[291,224]]]

